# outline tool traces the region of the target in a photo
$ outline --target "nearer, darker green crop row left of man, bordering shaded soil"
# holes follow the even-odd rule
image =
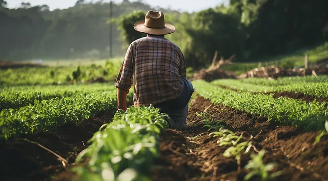
[[[76,123],[100,112],[114,110],[115,107],[114,90],[45,100],[34,99],[33,104],[16,110],[1,110],[0,139],[19,137],[22,133],[56,130],[66,123]]]

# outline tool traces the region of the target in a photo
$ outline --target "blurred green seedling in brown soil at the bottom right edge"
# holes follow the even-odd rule
[[[265,150],[261,150],[258,154],[251,154],[251,160],[245,166],[250,172],[244,176],[244,180],[251,180],[255,175],[258,175],[262,181],[275,180],[275,178],[282,174],[282,171],[270,173],[275,167],[275,163],[263,163],[263,156]]]

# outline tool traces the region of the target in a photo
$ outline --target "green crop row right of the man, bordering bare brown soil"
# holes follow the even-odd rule
[[[222,89],[202,80],[193,85],[200,96],[208,98],[214,104],[222,104],[233,109],[259,116],[283,124],[301,127],[307,130],[324,130],[328,116],[328,103],[306,103],[286,97],[274,98],[273,94],[252,94]]]

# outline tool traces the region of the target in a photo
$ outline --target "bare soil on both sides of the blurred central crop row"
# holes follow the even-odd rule
[[[0,147],[1,180],[73,180],[76,175],[69,169],[74,166],[77,154],[111,117],[24,136],[68,160],[66,166],[35,144],[8,140]],[[313,145],[317,132],[303,132],[296,127],[269,122],[266,117],[213,105],[202,97],[191,102],[187,118],[189,129],[168,129],[160,135],[160,156],[154,160],[152,180],[243,180],[249,172],[244,166],[251,159],[250,153],[243,154],[240,162],[234,157],[224,157],[228,146],[220,147],[218,138],[203,128],[206,123],[218,121],[237,135],[243,134],[241,141],[251,141],[253,153],[265,149],[263,162],[276,164],[271,172],[282,171],[274,180],[328,180],[328,136]]]

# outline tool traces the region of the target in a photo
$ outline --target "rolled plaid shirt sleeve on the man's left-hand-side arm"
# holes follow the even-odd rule
[[[116,78],[115,87],[124,89],[129,93],[133,80],[133,59],[131,53],[131,45],[125,55],[124,61]]]

